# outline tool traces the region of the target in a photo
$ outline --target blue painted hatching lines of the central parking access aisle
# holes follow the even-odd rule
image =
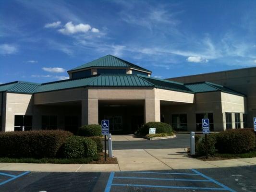
[[[223,185],[222,183],[213,180],[212,178],[200,173],[199,171],[195,169],[191,169],[193,173],[177,173],[177,172],[147,172],[147,171],[121,171],[121,173],[133,173],[133,174],[138,174],[138,173],[144,173],[144,174],[162,174],[162,175],[185,175],[185,176],[200,176],[203,177],[204,179],[177,179],[177,178],[150,178],[150,177],[125,177],[125,176],[115,176],[115,172],[110,173],[110,177],[107,183],[107,186],[105,188],[105,192],[110,192],[112,186],[121,186],[121,187],[145,187],[145,188],[163,188],[163,189],[192,189],[192,190],[208,190],[208,191],[229,191],[229,192],[235,192],[231,188]],[[120,172],[117,172],[120,173]],[[115,183],[115,179],[122,180],[122,183]],[[147,184],[133,184],[133,183],[125,183],[126,180],[140,180],[142,182],[147,183],[146,180],[170,180],[170,181],[190,181],[190,182],[206,182],[206,183],[214,183],[215,185],[218,185],[219,187],[198,187],[197,184],[195,186],[168,186],[168,185],[147,185]],[[124,183],[123,183],[124,182]],[[132,181],[133,182],[133,181]]]

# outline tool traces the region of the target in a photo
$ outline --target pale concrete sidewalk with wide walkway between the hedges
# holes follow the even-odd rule
[[[256,157],[201,161],[187,156],[184,148],[114,150],[119,164],[0,163],[0,170],[45,172],[95,172],[224,168],[256,165]]]

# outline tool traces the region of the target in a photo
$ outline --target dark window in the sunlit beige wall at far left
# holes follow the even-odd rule
[[[32,130],[33,116],[32,115],[15,115],[14,116],[14,131]]]

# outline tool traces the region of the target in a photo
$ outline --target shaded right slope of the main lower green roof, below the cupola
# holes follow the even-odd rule
[[[194,93],[192,90],[188,89],[184,84],[174,82],[174,81],[168,81],[163,79],[158,79],[154,77],[148,77],[145,75],[138,75],[141,78],[145,79],[146,81],[153,84],[155,87],[162,88],[162,89],[168,89],[173,91],[181,91],[181,92],[187,92],[187,93]]]

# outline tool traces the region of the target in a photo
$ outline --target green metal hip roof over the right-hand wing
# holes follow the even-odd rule
[[[195,93],[204,93],[204,92],[212,92],[212,91],[221,91],[225,93],[230,93],[238,96],[244,96],[243,94],[236,92],[232,89],[229,89],[220,84],[213,84],[210,82],[198,82],[192,84],[184,84],[187,88],[194,91]]]

